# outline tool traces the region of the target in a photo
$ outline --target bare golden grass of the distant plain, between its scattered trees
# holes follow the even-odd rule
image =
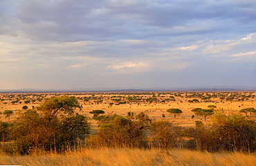
[[[203,93],[203,92],[199,92],[199,93]],[[228,93],[228,95],[230,95],[233,92]],[[249,92],[239,92],[241,95],[248,95]],[[250,92],[252,95],[256,95],[256,92]],[[37,93],[37,95],[39,95],[40,93]],[[90,97],[92,96],[93,93],[72,93],[72,95],[75,95],[76,98],[84,98],[84,97]],[[156,94],[156,98],[158,98],[158,100],[165,100],[166,98],[170,98],[170,94],[165,94],[165,95],[160,95],[157,96]],[[191,95],[191,93],[187,93],[188,95]],[[209,94],[212,94],[209,92]],[[3,95],[6,94],[0,94],[0,97],[3,98]],[[10,95],[10,94],[9,94]],[[16,94],[17,95],[17,94]],[[36,98],[33,97],[33,94],[26,94],[27,98]],[[42,95],[46,96],[46,98],[51,98],[53,96],[55,96],[55,93],[42,93]],[[64,95],[64,93],[62,93],[62,95]],[[129,104],[113,104],[112,107],[109,107],[109,103],[113,102],[115,103],[113,100],[111,100],[111,97],[113,96],[122,96],[123,98],[127,98],[128,95],[129,96],[139,96],[140,98],[149,98],[152,97],[152,95],[150,94],[126,94],[123,95],[121,93],[96,93],[93,94],[95,95],[95,97],[100,97],[102,96],[103,98],[103,102],[100,104],[95,104],[95,102],[93,100],[90,100],[89,102],[84,102],[82,100],[79,100],[80,104],[82,104],[83,109],[82,109],[82,113],[83,115],[89,116],[90,118],[92,118],[92,115],[89,113],[89,111],[93,111],[95,109],[101,109],[103,111],[105,111],[105,113],[116,113],[120,116],[127,116],[127,112],[132,111],[134,113],[140,113],[142,111],[147,111],[149,118],[155,118],[156,120],[161,120],[162,118],[162,114],[165,114],[165,119],[169,119],[172,122],[176,122],[178,123],[180,126],[185,126],[185,127],[194,127],[195,126],[195,122],[196,120],[202,120],[204,124],[208,124],[209,122],[211,122],[211,118],[207,118],[206,122],[204,122],[202,117],[195,117],[195,118],[191,118],[191,116],[193,115],[192,113],[192,109],[195,108],[202,108],[202,109],[207,109],[208,105],[215,105],[217,106],[217,109],[219,110],[223,110],[224,113],[226,114],[237,114],[239,113],[239,110],[244,109],[244,108],[248,108],[248,107],[256,107],[255,104],[255,98],[249,98],[248,100],[244,100],[244,101],[226,101],[223,100],[223,102],[221,102],[221,100],[219,98],[211,98],[210,100],[212,100],[213,102],[199,102],[199,103],[190,103],[188,102],[188,100],[192,100],[194,99],[192,98],[185,98],[185,93],[181,93],[181,96],[175,96],[176,101],[169,101],[169,102],[165,102],[165,103],[161,103],[161,102],[152,102],[151,104],[149,104],[148,102],[140,102],[139,104],[136,102],[133,103],[129,103]],[[163,97],[165,96],[165,97]],[[172,95],[174,96],[174,95]],[[15,96],[16,97],[16,96]],[[197,98],[198,100],[200,100],[200,98]],[[15,100],[15,98],[12,98],[12,100]],[[31,109],[32,106],[37,107],[41,102],[36,101],[35,103],[29,103],[29,104],[24,104],[25,100],[20,100],[20,103],[16,103],[16,104],[11,104],[12,100],[4,100],[3,102],[8,102],[8,104],[3,104],[3,102],[0,102],[0,112],[3,112],[4,110],[13,110],[14,111],[14,115],[10,116],[10,120],[7,118],[4,118],[4,115],[0,115],[0,120],[3,122],[8,122],[8,121],[12,121],[12,120],[16,120],[17,116],[19,115],[20,112],[22,112],[22,107],[24,105],[28,106],[28,109]],[[43,100],[44,101],[44,100]],[[202,101],[202,100],[201,100]],[[93,103],[93,104],[92,104]],[[176,118],[174,118],[173,115],[170,115],[170,113],[167,113],[166,110],[170,109],[170,108],[176,108],[176,109],[181,109],[183,111],[183,113],[181,113],[180,116],[177,116]],[[90,120],[91,124],[93,124],[93,128],[95,128],[97,126],[95,120]]]

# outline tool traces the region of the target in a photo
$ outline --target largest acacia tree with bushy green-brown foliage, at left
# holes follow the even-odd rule
[[[74,97],[65,95],[45,100],[37,111],[21,114],[12,130],[20,154],[37,148],[62,151],[75,147],[90,130],[86,116],[74,113],[76,108],[82,107]]]

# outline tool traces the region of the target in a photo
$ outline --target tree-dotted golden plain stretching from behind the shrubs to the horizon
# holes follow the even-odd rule
[[[116,113],[120,116],[127,116],[128,112],[145,112],[153,120],[167,119],[185,127],[194,127],[196,120],[204,124],[211,122],[211,116],[206,121],[201,116],[192,116],[191,111],[195,108],[208,109],[209,105],[216,106],[215,112],[220,111],[226,115],[239,114],[241,109],[256,107],[255,91],[214,91],[214,92],[102,92],[102,93],[1,93],[0,98],[0,120],[8,122],[15,120],[19,113],[24,112],[22,107],[36,109],[46,98],[54,96],[69,95],[75,96],[82,105],[80,113],[89,117],[92,127],[97,124],[93,110],[102,110],[105,114]],[[181,109],[183,113],[174,116],[167,113],[167,109]],[[13,114],[5,118],[3,112],[12,110]]]

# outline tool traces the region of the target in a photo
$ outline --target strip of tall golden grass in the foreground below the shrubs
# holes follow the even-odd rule
[[[66,154],[0,155],[0,165],[256,165],[256,154],[161,149],[82,149]]]

